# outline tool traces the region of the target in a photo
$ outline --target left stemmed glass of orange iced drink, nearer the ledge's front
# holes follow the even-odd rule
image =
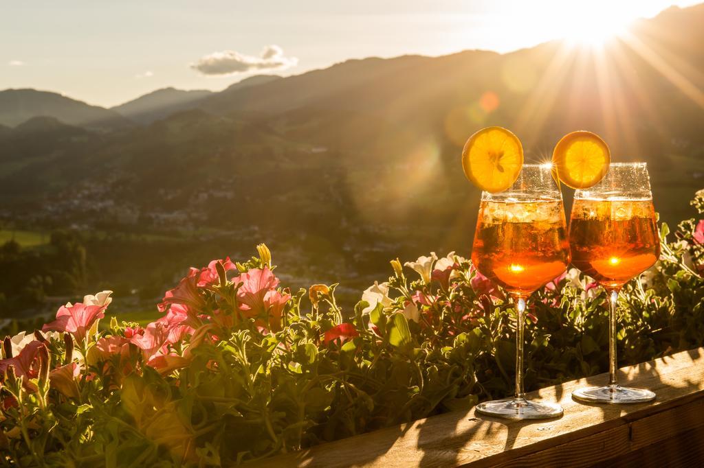
[[[515,419],[562,415],[560,405],[527,400],[523,390],[526,300],[570,264],[565,210],[550,164],[524,164],[511,188],[482,193],[472,262],[479,273],[505,288],[516,310],[515,394],[479,403],[477,412]]]

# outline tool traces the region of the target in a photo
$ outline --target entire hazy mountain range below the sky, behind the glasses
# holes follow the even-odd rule
[[[674,221],[704,185],[703,24],[704,4],[672,7],[604,48],[347,60],[111,109],[0,91],[0,214],[168,230],[179,213],[182,226],[285,232],[291,249],[313,242],[350,264],[364,249],[466,251],[479,195],[460,152],[501,125],[527,161],[595,131],[613,160],[648,162],[656,209]]]

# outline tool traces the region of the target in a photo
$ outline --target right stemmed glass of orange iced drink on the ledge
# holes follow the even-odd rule
[[[609,295],[609,383],[578,389],[572,396],[598,403],[653,400],[652,391],[620,386],[616,379],[618,294],[626,282],[653,266],[660,256],[646,163],[611,164],[596,186],[574,193],[570,248],[572,264]]]

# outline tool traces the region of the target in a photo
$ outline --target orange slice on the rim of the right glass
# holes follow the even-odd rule
[[[601,181],[610,162],[608,145],[591,131],[573,131],[553,150],[553,167],[560,181],[572,188],[589,188]]]

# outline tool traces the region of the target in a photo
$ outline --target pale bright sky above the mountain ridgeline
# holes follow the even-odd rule
[[[0,89],[111,107],[166,86],[219,91],[349,58],[592,41],[700,1],[0,0]]]

